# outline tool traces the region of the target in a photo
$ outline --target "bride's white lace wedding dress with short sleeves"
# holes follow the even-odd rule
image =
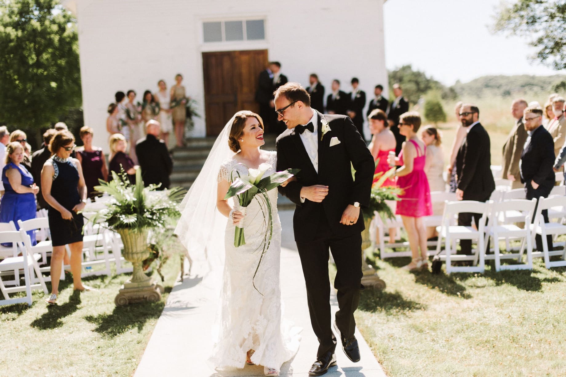
[[[269,152],[268,164],[272,168],[265,172],[264,177],[276,172],[276,159],[277,153]],[[225,179],[231,183],[230,175],[234,170],[241,175],[248,174],[245,165],[230,158],[222,164],[218,182]],[[243,368],[246,352],[253,349],[252,362],[279,370],[282,363],[293,357],[299,348],[301,329],[282,319],[279,276],[281,222],[277,214],[277,188],[268,191],[268,197],[272,204],[273,236],[253,282],[266,232],[264,213],[258,201],[252,200],[246,209],[243,228],[246,245],[234,247],[235,226],[231,221],[226,225],[221,307],[216,319],[217,339],[209,359],[216,369]],[[266,210],[263,208],[263,211]]]

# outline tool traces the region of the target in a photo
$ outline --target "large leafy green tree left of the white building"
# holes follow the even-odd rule
[[[55,0],[0,0],[0,119],[40,128],[80,106],[76,20]]]

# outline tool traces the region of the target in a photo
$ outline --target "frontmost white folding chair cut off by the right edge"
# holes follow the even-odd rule
[[[564,212],[566,208],[566,196],[553,196],[552,198],[539,198],[537,213],[535,214],[535,221],[531,224],[532,234],[531,237],[535,237],[535,235],[541,235],[542,237],[542,248],[543,251],[535,251],[533,252],[533,258],[544,258],[544,267],[552,268],[552,267],[560,267],[566,265],[566,249],[565,250],[548,250],[548,242],[546,239],[547,235],[560,235],[566,234],[566,225],[562,224],[561,221],[559,222],[544,222],[544,218],[542,217],[542,211],[544,209],[550,208],[561,208],[561,211]],[[551,221],[552,219],[548,219]],[[550,257],[554,255],[561,255],[562,260],[550,261]]]

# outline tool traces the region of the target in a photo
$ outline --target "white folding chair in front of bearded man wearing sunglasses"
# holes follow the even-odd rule
[[[492,202],[475,202],[474,200],[462,200],[460,202],[448,202],[444,207],[444,215],[442,224],[436,228],[438,230],[438,243],[436,245],[436,252],[439,254],[442,239],[444,239],[445,253],[444,255],[439,254],[440,259],[446,261],[446,273],[451,272],[483,272],[484,271],[484,239],[485,239],[485,224],[488,214],[488,206]],[[464,225],[451,225],[454,218],[457,217],[458,213],[472,212],[481,213],[482,217],[479,220],[479,226],[477,230],[473,226]],[[453,240],[470,239],[471,241],[477,242],[477,249],[474,254],[464,255],[464,254],[454,254],[456,251],[452,250]],[[471,266],[454,266],[452,261],[464,261],[471,260],[473,265]],[[479,262],[479,263],[478,263]]]

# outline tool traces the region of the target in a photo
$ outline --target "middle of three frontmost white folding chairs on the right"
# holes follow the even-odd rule
[[[534,217],[535,205],[537,205],[537,199],[511,199],[505,200],[504,202],[492,203],[488,226],[486,229],[486,239],[489,239],[490,237],[492,238],[491,245],[493,247],[492,250],[494,251],[494,254],[487,254],[484,259],[495,260],[495,271],[501,271],[501,269],[533,269],[533,246],[530,222]],[[524,221],[522,228],[516,224],[509,224],[505,222],[505,216],[503,216],[503,221],[501,220],[501,213],[504,215],[509,211],[517,211],[521,213],[522,220]],[[508,253],[503,254],[499,250],[499,238],[505,238],[505,249]],[[509,247],[509,239],[521,239],[521,247],[518,252],[509,252],[514,251],[511,247]],[[525,243],[527,262],[522,263]],[[516,259],[517,264],[501,265],[501,259]]]

